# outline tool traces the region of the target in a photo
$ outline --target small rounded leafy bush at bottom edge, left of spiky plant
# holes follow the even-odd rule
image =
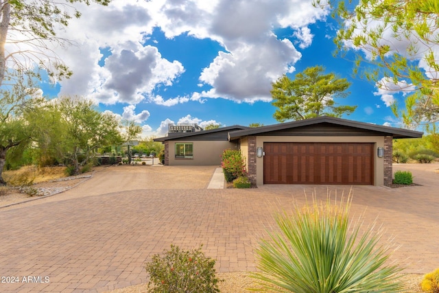
[[[163,256],[154,255],[145,267],[150,274],[148,292],[219,292],[215,260],[205,257],[201,248],[180,250],[171,245]]]

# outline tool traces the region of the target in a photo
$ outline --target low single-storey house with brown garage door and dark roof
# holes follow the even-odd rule
[[[218,165],[215,162],[222,150],[239,149],[246,159],[248,177],[257,185],[380,186],[392,183],[392,139],[422,135],[414,130],[316,117],[258,128],[230,126],[156,141],[165,143],[165,165]]]

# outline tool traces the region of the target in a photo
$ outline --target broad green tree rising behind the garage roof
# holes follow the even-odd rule
[[[334,99],[346,97],[351,85],[346,78],[334,73],[323,74],[321,66],[308,67],[297,73],[294,80],[283,75],[272,84],[272,105],[277,121],[302,120],[318,116],[341,117],[353,113],[357,106],[337,106]]]

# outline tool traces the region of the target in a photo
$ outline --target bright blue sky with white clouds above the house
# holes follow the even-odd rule
[[[336,23],[309,0],[113,0],[79,5],[82,18],[56,49],[73,70],[70,80],[41,84],[43,94],[82,95],[102,111],[133,119],[143,136],[160,137],[168,123],[276,124],[271,82],[322,65],[351,83],[340,104],[357,105],[344,118],[400,126],[390,102],[352,75],[353,63],[334,57]]]

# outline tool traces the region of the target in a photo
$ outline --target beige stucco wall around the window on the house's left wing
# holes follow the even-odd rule
[[[176,159],[176,143],[193,143],[193,159]],[[237,150],[237,143],[228,141],[169,141],[169,165],[221,165],[221,154],[231,148]]]

